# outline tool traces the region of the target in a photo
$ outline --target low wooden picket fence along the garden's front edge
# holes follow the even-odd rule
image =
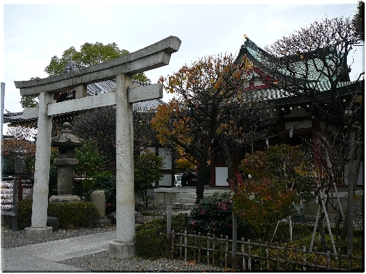
[[[337,255],[298,249],[285,244],[280,247],[278,243],[270,245],[269,242],[251,242],[250,240],[237,240],[237,252],[233,256],[231,251],[233,240],[228,236],[220,238],[215,235],[202,236],[196,234],[170,232],[170,256],[185,262],[206,263],[221,268],[233,268],[242,271],[361,271],[364,269],[363,258],[352,256],[351,253]],[[356,267],[354,266],[356,265]]]

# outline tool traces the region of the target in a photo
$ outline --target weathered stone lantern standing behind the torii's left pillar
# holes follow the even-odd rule
[[[73,134],[70,123],[64,123],[61,133],[51,139],[51,146],[58,148],[58,157],[53,160],[53,164],[58,167],[57,195],[49,199],[51,203],[81,201],[79,196],[73,195],[73,169],[79,163],[75,159],[75,147],[81,145],[83,139]]]

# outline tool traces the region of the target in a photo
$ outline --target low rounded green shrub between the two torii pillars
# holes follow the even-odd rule
[[[60,226],[74,225],[76,227],[92,227],[99,219],[96,206],[90,202],[77,201],[73,203],[49,203],[49,216],[55,216]]]

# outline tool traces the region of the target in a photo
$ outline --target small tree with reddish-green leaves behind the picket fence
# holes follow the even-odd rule
[[[300,147],[280,145],[246,154],[243,175],[230,180],[234,212],[270,240],[279,220],[295,211],[293,203],[311,198],[313,169]]]

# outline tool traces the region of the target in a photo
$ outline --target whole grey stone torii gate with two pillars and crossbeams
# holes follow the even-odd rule
[[[33,211],[31,227],[25,229],[26,237],[40,238],[52,234],[52,227],[47,227],[52,116],[116,105],[117,239],[109,244],[109,256],[129,258],[135,255],[132,103],[162,98],[163,88],[161,84],[139,87],[132,84],[131,75],[169,64],[170,55],[178,51],[180,45],[179,38],[169,36],[129,55],[85,69],[44,79],[14,81],[21,96],[40,96],[38,108],[23,112],[25,120],[38,118]],[[114,78],[115,92],[86,97],[87,84]],[[53,102],[54,92],[75,87],[77,99]]]

